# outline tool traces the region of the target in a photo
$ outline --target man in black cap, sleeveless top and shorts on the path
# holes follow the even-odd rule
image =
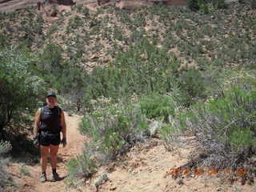
[[[46,95],[46,106],[42,106],[34,117],[34,145],[40,147],[42,174],[40,182],[46,182],[47,158],[50,153],[52,174],[51,182],[60,180],[57,172],[57,154],[59,144],[66,146],[66,122],[64,112],[57,106],[57,97],[54,93]],[[62,132],[62,140],[61,133]]]

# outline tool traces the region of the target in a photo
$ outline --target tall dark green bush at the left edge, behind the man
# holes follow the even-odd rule
[[[44,81],[34,75],[34,58],[18,49],[0,51],[0,133],[21,130],[27,115],[38,107]],[[0,134],[0,135],[1,135]]]

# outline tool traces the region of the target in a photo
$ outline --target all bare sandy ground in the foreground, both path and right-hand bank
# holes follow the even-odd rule
[[[61,177],[67,175],[65,163],[82,152],[84,142],[87,140],[78,132],[80,120],[81,117],[79,116],[66,115],[68,145],[66,148],[61,147],[58,154],[58,173]],[[178,179],[174,179],[170,175],[166,176],[166,172],[171,168],[184,165],[187,162],[188,154],[189,150],[166,151],[161,140],[152,138],[150,141],[132,148],[126,158],[113,162],[109,166],[100,167],[90,185],[78,186],[76,189],[69,189],[63,180],[59,182],[38,182],[41,172],[39,163],[35,166],[27,166],[30,175],[21,177],[19,174],[21,165],[14,163],[10,166],[10,170],[20,186],[18,189],[11,191],[95,192],[94,179],[102,173],[106,173],[109,180],[99,187],[98,192],[256,191],[255,184],[253,186],[247,184],[242,186],[240,182],[235,182],[234,185],[230,185],[217,176],[208,176],[207,174]],[[47,174],[50,175],[50,165],[48,167]]]

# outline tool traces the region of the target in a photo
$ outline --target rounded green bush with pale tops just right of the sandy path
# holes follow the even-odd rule
[[[118,158],[130,146],[142,140],[146,132],[146,118],[137,105],[119,102],[111,104],[109,99],[101,98],[94,103],[102,103],[97,110],[82,119],[80,130],[98,143],[98,150],[109,159]],[[98,105],[99,106],[99,105]]]

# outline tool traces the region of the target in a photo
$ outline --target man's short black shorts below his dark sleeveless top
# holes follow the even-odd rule
[[[39,134],[39,144],[41,146],[58,146],[61,143],[61,134],[51,134],[48,132],[41,132]]]

